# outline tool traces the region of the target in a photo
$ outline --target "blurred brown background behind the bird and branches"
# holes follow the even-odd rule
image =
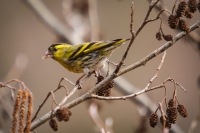
[[[113,40],[117,38],[129,38],[130,34],[130,13],[131,0],[1,0],[0,1],[0,82],[17,78],[23,81],[34,95],[34,113],[42,103],[47,93],[55,89],[62,77],[75,82],[81,74],[70,73],[52,59],[42,60],[42,56],[47,48],[58,42],[81,43],[91,40]],[[35,11],[35,7],[42,9],[41,3],[56,17],[67,30],[55,31],[60,23],[52,19],[54,26],[48,26],[41,16]],[[173,2],[163,0],[161,5],[169,11],[172,10]],[[149,6],[148,0],[134,1],[134,30],[142,23]],[[46,13],[42,10],[42,13]],[[156,17],[159,11],[154,9],[150,18]],[[48,13],[47,13],[48,14]],[[51,16],[43,16],[51,18]],[[194,14],[190,20],[186,20],[188,25],[194,24],[200,19],[199,12]],[[49,19],[50,21],[50,19]],[[133,64],[143,57],[163,45],[166,41],[157,41],[155,34],[159,29],[160,21],[149,23],[136,38],[130,53],[125,61],[125,65]],[[59,27],[58,26],[58,27]],[[179,31],[171,30],[167,26],[167,19],[163,16],[163,31],[165,34],[175,36]],[[177,125],[183,132],[188,132],[191,123],[200,113],[199,94],[199,39],[200,30],[196,33],[197,40],[185,37],[179,40],[173,47],[167,50],[165,62],[159,72],[158,78],[151,86],[162,83],[168,77],[174,78],[186,90],[178,88],[177,97],[181,104],[188,110],[188,117],[178,116]],[[70,38],[66,40],[61,33]],[[191,33],[192,34],[192,33]],[[68,37],[69,37],[68,36]],[[127,44],[121,46],[110,58],[113,62],[119,62]],[[161,55],[148,62],[145,66],[135,69],[123,75],[137,89],[143,89],[149,80],[155,75],[160,64]],[[78,91],[69,101],[80,96],[96,83],[94,77],[88,79],[83,89]],[[69,90],[73,87],[65,83]],[[122,85],[123,86],[123,85]],[[123,86],[126,88],[127,86]],[[65,90],[56,92],[56,101],[60,101]],[[167,98],[173,94],[172,83],[167,83]],[[111,95],[125,95],[117,87],[112,89]],[[164,97],[164,90],[158,89],[150,91],[147,95],[155,104],[161,102]],[[13,102],[10,100],[10,91],[1,88],[0,104],[0,130],[2,133],[9,132]],[[138,97],[142,97],[138,96]],[[133,98],[134,99],[134,98]],[[113,121],[112,129],[115,133],[143,133],[161,132],[161,128],[156,126],[151,128],[148,124],[149,115],[144,116],[141,106],[132,99],[124,101],[98,101],[99,115],[103,121]],[[90,101],[83,102],[70,109],[72,116],[68,122],[60,122],[58,132],[78,133],[78,132],[99,132],[88,113]],[[148,104],[148,101],[146,101]],[[150,104],[148,104],[151,106]],[[6,109],[4,108],[6,107]],[[38,118],[51,110],[51,98],[42,108]],[[156,110],[156,108],[155,108]],[[160,125],[160,124],[159,124]],[[200,126],[194,130],[198,133]],[[140,128],[141,131],[139,130]],[[172,125],[172,129],[174,125]],[[37,132],[54,131],[49,127],[48,122],[36,129]]]

